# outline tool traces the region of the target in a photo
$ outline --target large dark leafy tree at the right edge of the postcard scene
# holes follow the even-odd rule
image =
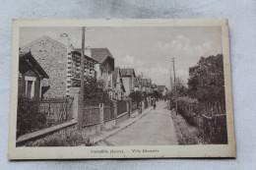
[[[224,113],[223,55],[201,57],[197,66],[190,69],[189,75],[189,96],[204,103],[207,110]]]

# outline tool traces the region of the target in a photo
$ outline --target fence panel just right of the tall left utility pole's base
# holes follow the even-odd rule
[[[99,106],[88,106],[83,112],[83,127],[96,125],[100,123]]]

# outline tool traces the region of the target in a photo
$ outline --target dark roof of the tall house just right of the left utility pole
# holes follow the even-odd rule
[[[103,63],[108,57],[114,60],[114,57],[107,48],[91,48],[92,58],[99,63]]]

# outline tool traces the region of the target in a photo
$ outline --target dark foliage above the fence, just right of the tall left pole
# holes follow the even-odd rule
[[[97,81],[95,77],[85,77],[85,103],[88,105],[110,104],[111,99],[104,86],[104,82]]]

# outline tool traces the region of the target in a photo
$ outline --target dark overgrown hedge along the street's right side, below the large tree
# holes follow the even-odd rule
[[[215,108],[206,108],[197,99],[177,98],[178,114],[200,130],[204,143],[227,143],[226,115]],[[170,109],[174,108],[172,102]]]

